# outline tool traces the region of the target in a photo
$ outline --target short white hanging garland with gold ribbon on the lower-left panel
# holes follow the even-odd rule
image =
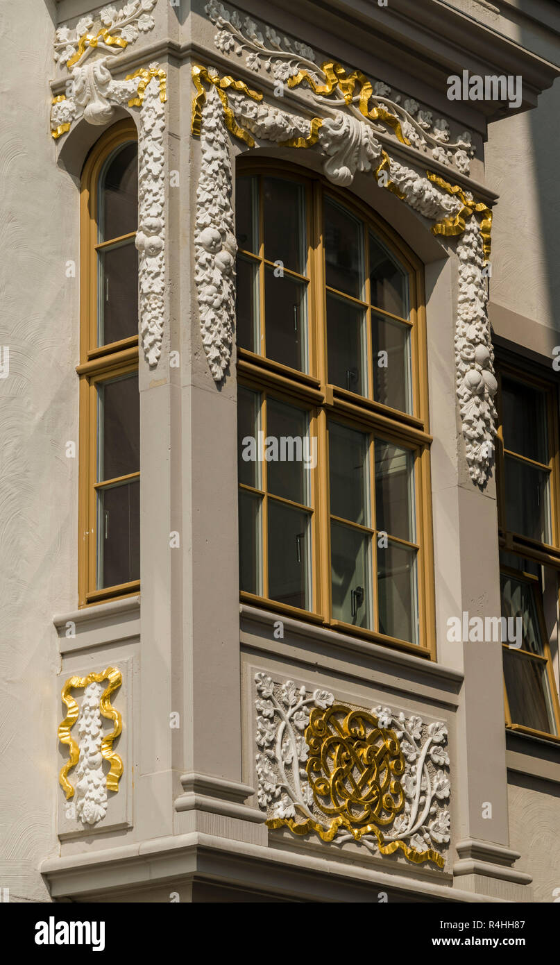
[[[101,681],[108,680],[103,690]],[[67,705],[67,716],[60,724],[58,737],[68,745],[68,759],[60,772],[60,784],[67,800],[76,795],[76,812],[84,824],[96,824],[107,813],[107,791],[118,791],[122,775],[122,760],[113,751],[113,742],[122,730],[122,720],[118,710],[111,705],[111,695],[120,687],[120,670],[107,667],[101,674],[70,676],[62,690],[62,698]],[[81,708],[70,691],[83,689]],[[101,715],[114,723],[111,733],[103,736]],[[71,735],[71,730],[79,718],[79,746]],[[110,762],[107,775],[103,772],[103,760]],[[77,766],[76,766],[77,765]],[[76,767],[77,783],[75,788],[67,780],[68,771]]]

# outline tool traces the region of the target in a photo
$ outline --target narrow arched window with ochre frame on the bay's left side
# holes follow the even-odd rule
[[[140,589],[137,155],[116,124],[82,176],[80,606]]]

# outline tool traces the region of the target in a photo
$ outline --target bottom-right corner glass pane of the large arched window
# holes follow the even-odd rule
[[[378,546],[379,632],[417,643],[416,550],[390,539]]]

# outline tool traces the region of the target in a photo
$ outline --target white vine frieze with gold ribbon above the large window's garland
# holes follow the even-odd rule
[[[378,132],[388,125],[402,144],[413,145],[434,160],[468,173],[474,154],[471,135],[463,131],[456,142],[451,142],[447,121],[434,119],[433,113],[413,97],[405,96],[402,105],[399,101],[404,95],[389,98],[391,88],[383,80],[371,81],[360,70],[347,71],[334,61],[319,65],[307,44],[280,37],[273,27],[256,24],[237,11],[230,13],[217,0],[209,0],[204,10],[218,28],[216,48],[226,55],[245,55],[247,69],[256,73],[263,70],[292,89],[304,85],[315,102],[328,97],[333,107],[349,106],[376,123]]]

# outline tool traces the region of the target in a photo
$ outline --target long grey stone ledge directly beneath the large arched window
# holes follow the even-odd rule
[[[426,660],[425,657],[417,657],[404,650],[361,640],[360,637],[339,633],[324,626],[307,623],[305,620],[294,620],[292,617],[285,617],[272,610],[262,610],[259,607],[249,606],[247,603],[240,603],[239,613],[246,620],[270,625],[271,638],[274,623],[281,620],[284,629],[291,630],[299,637],[308,637],[315,641],[320,640],[335,647],[338,651],[341,649],[352,650],[368,657],[375,657],[385,663],[410,668],[417,674],[445,679],[455,686],[461,685],[464,679],[464,675],[460,671],[454,670],[452,667],[444,667],[433,660]]]

